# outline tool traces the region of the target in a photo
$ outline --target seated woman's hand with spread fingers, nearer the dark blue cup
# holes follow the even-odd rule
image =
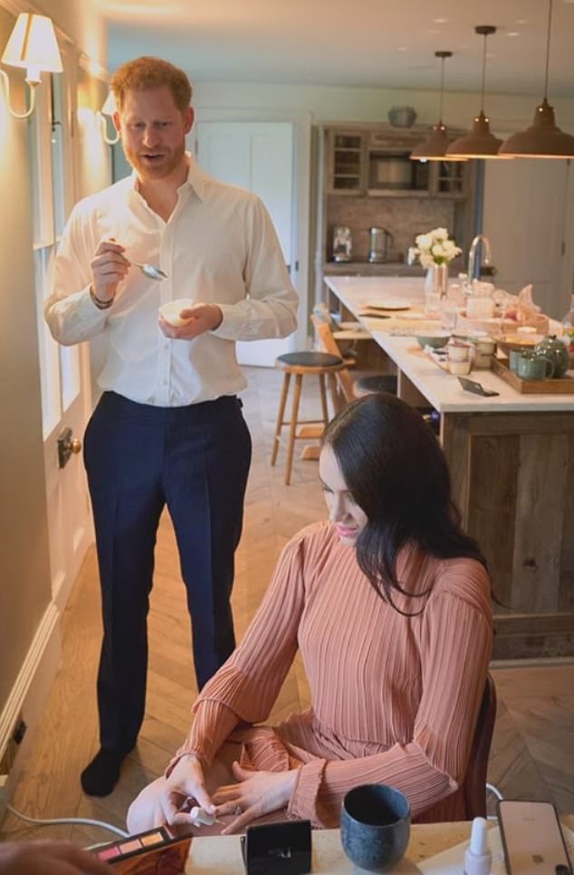
[[[288,772],[254,772],[233,764],[237,784],[219,787],[213,794],[215,817],[241,813],[222,830],[222,835],[243,832],[248,823],[263,814],[280,811],[289,803],[297,781],[297,769]]]

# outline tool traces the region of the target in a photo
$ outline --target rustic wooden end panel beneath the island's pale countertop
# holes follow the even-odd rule
[[[441,440],[500,603],[494,658],[571,655],[574,417],[445,414]]]

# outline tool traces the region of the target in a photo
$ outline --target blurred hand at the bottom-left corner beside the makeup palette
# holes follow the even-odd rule
[[[72,842],[0,842],[0,875],[112,875]]]

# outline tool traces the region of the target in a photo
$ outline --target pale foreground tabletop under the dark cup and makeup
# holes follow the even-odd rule
[[[562,823],[574,828],[574,815],[562,818]],[[494,824],[493,824],[494,825]],[[417,863],[434,857],[441,851],[453,848],[460,842],[468,842],[470,822],[426,823],[411,829],[411,838],[405,858],[393,870],[416,873],[421,870]],[[358,870],[345,857],[340,845],[339,830],[317,830],[312,832],[312,872],[313,875],[340,875],[357,873]],[[460,870],[462,872],[462,868]],[[213,836],[194,839],[187,862],[189,875],[244,875],[239,836]]]

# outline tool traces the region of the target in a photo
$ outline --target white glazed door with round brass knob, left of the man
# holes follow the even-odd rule
[[[64,54],[64,65],[66,62]],[[68,68],[69,70],[70,68]],[[67,73],[38,89],[31,123],[33,175],[33,261],[37,310],[46,503],[53,604],[66,604],[81,561],[92,540],[86,477],[79,452],[59,452],[64,429],[81,441],[91,409],[89,360],[85,347],[60,347],[43,320],[58,235],[73,197],[72,139]],[[50,90],[53,88],[53,94]],[[51,105],[58,124],[52,125]],[[77,445],[76,449],[77,449]],[[63,459],[68,456],[65,464]]]

